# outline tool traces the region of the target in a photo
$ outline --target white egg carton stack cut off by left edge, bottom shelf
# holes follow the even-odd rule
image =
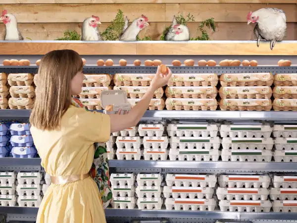
[[[0,172],[0,206],[15,206],[15,179],[14,171]]]

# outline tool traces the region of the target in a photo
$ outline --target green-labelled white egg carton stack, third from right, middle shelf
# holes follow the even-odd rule
[[[171,161],[218,161],[221,139],[217,137],[219,125],[215,123],[168,124]]]

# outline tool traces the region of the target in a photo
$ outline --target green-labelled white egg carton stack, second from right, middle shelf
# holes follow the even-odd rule
[[[274,141],[268,124],[222,124],[222,161],[270,162]]]

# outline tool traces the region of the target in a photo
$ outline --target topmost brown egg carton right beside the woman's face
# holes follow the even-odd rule
[[[83,85],[86,87],[107,87],[111,80],[110,74],[85,74]]]

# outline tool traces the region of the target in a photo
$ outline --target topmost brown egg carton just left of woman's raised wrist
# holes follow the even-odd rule
[[[155,74],[121,73],[113,76],[116,86],[149,86]]]

